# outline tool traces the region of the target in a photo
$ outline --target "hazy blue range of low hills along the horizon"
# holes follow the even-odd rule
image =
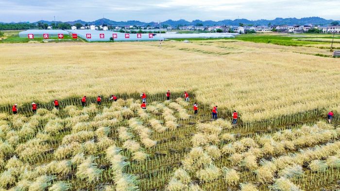
[[[313,17],[305,17],[305,18],[275,18],[273,20],[266,20],[266,19],[260,19],[260,20],[248,20],[248,19],[235,19],[235,20],[220,20],[220,21],[213,21],[213,20],[193,20],[193,21],[187,21],[184,19],[180,20],[166,20],[163,21],[162,24],[167,24],[172,27],[177,26],[185,26],[185,25],[196,25],[196,24],[203,24],[204,26],[214,26],[214,25],[233,25],[236,26],[239,23],[243,23],[245,25],[268,25],[269,23],[272,25],[304,25],[304,24],[314,24],[314,25],[327,25],[333,22],[334,20],[330,19],[324,19],[321,17],[313,16]],[[37,22],[43,22],[47,24],[51,24],[54,21],[46,21],[46,20],[39,20]],[[34,23],[37,23],[34,22]],[[61,21],[56,21],[56,23],[60,23]],[[1,22],[0,22],[1,23]],[[142,22],[138,20],[128,20],[128,21],[114,21],[107,18],[101,18],[95,21],[83,21],[83,20],[75,20],[75,21],[68,21],[66,23],[69,23],[71,25],[74,25],[75,23],[81,23],[83,25],[150,25],[150,26],[157,26],[157,23],[155,22]]]

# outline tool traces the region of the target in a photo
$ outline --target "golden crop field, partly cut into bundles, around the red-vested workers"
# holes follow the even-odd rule
[[[340,60],[317,47],[0,44],[0,191],[338,190]]]

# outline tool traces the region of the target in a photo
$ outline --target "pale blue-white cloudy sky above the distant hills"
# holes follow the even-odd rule
[[[340,0],[0,0],[0,21],[145,22],[320,16],[340,20]]]

